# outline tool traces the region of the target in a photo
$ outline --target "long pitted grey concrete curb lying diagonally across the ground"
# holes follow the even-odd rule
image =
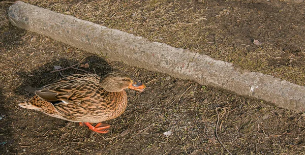
[[[123,61],[131,66],[194,80],[297,112],[305,110],[305,87],[261,73],[241,73],[232,64],[207,55],[151,42],[23,2],[16,2],[10,7],[9,17],[17,27],[87,52],[102,54],[112,61]]]

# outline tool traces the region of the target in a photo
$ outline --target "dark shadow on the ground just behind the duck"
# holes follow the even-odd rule
[[[59,58],[58,60],[50,60],[52,63],[47,63],[34,71],[30,72],[17,72],[19,75],[20,79],[22,79],[22,83],[20,86],[15,90],[16,94],[19,95],[24,95],[26,87],[33,87],[33,88],[40,88],[44,85],[53,83],[60,78],[63,78],[59,74],[59,72],[54,72],[50,73],[51,71],[54,71],[54,66],[60,66],[63,69],[71,67],[73,65],[79,64],[75,66],[74,68],[80,69],[73,69],[73,68],[68,68],[67,70],[60,71],[62,75],[64,76],[69,76],[71,74],[75,73],[84,73],[84,72],[90,72],[94,73],[100,76],[103,76],[109,72],[112,71],[111,67],[107,63],[107,61],[99,57],[97,55],[90,55],[81,60],[79,62],[78,60],[73,60],[73,59],[67,59],[67,58]],[[88,67],[81,67],[82,65],[88,64]],[[94,66],[94,67],[93,67]],[[84,71],[81,71],[84,70]]]

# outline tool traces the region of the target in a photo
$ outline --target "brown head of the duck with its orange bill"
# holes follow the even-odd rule
[[[127,88],[142,92],[146,87],[143,83],[135,82],[129,76],[121,72],[106,74],[101,80],[101,86],[109,92],[119,92]]]

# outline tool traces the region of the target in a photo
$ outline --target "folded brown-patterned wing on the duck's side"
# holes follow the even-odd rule
[[[35,94],[42,100],[54,104],[70,103],[90,97],[94,90],[98,89],[99,81],[100,77],[95,74],[73,74],[36,90]]]

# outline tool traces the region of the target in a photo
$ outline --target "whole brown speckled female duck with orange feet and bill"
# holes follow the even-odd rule
[[[107,133],[110,125],[101,121],[116,118],[125,111],[126,88],[143,91],[145,85],[119,72],[103,78],[96,74],[73,74],[36,90],[32,99],[19,106]],[[98,124],[93,127],[89,122]]]

